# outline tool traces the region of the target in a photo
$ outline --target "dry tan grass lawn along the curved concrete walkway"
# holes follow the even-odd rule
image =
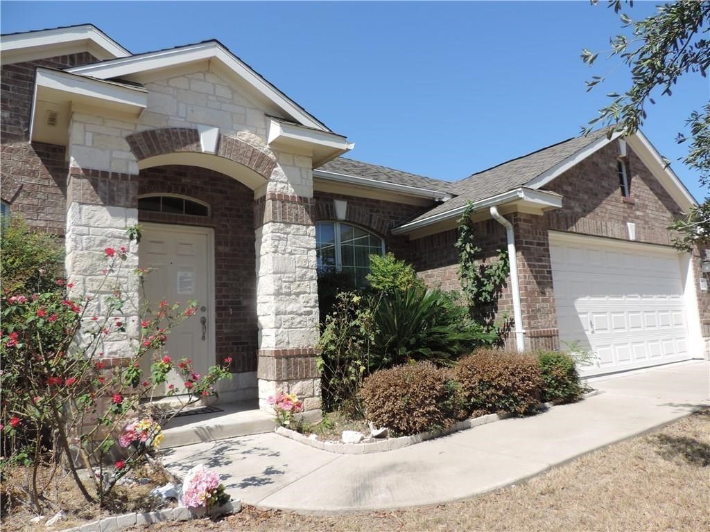
[[[245,506],[150,532],[710,531],[710,410],[574,460],[525,484],[440,506],[302,516]]]

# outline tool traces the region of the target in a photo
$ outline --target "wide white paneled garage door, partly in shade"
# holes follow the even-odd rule
[[[674,250],[550,233],[550,255],[560,340],[596,355],[584,375],[690,358]]]

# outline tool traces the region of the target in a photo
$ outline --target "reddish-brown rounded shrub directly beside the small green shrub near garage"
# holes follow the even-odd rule
[[[530,414],[540,405],[542,374],[534,355],[479,350],[459,360],[455,375],[470,412]]]

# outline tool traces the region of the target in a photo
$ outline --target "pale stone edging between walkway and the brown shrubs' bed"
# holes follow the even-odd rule
[[[601,390],[592,390],[591,392],[583,394],[580,401],[601,393]],[[544,403],[540,404],[540,409],[548,410],[553,406],[555,405],[552,403]],[[454,423],[449,428],[444,428],[440,431],[427,431],[414,434],[413,436],[400,436],[399,438],[386,438],[364,443],[339,443],[334,441],[312,440],[300,432],[292,431],[290,428],[282,426],[276,427],[275,431],[277,434],[280,434],[280,436],[285,436],[291,440],[303,443],[309,447],[327,451],[328,453],[335,453],[339,455],[369,455],[372,453],[384,453],[388,450],[402,449],[409,447],[410,445],[422,443],[422,441],[447,436],[447,434],[464,431],[466,428],[473,428],[480,425],[486,425],[488,423],[494,423],[495,421],[508,419],[513,416],[515,416],[515,414],[486,414],[485,416],[479,416],[473,419],[464,419],[464,421]]]

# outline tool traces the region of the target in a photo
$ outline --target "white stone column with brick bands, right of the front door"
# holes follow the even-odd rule
[[[258,393],[295,393],[320,409],[318,292],[312,198],[267,192],[256,200]]]

